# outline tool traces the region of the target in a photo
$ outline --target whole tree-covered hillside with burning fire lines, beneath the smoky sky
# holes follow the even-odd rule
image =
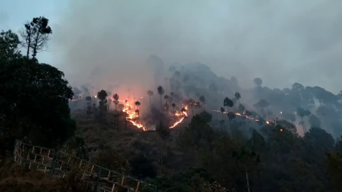
[[[217,77],[194,64],[180,70],[171,66],[170,87],[148,90],[149,102],[135,100],[133,109],[105,90],[97,90],[96,100],[89,93],[75,99],[82,91],[36,58],[51,33],[44,17],[26,23],[21,40],[11,30],[0,33],[0,189],[84,191],[76,177],[62,184],[8,163],[14,139],[25,139],[145,180],[160,192],[342,191],[342,141],[334,139],[342,133],[342,94],[299,83],[272,90],[260,78],[253,80],[255,87],[242,89],[236,78]],[[172,92],[166,94],[168,88]],[[73,99],[85,105],[72,119]],[[155,131],[138,131],[132,124],[140,120],[143,105],[149,116],[142,117],[156,125]],[[170,129],[177,118],[186,120]]]

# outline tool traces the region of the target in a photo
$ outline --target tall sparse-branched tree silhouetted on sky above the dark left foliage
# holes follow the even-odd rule
[[[23,38],[22,45],[27,48],[27,57],[30,48],[32,49],[32,57],[35,58],[38,52],[48,49],[47,42],[49,35],[52,34],[49,19],[45,17],[34,17],[30,23],[26,23],[24,28],[20,30]]]

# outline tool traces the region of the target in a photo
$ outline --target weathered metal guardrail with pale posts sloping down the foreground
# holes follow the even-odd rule
[[[65,178],[73,168],[77,168],[82,173],[79,179],[90,184],[94,191],[157,191],[157,187],[152,184],[96,165],[66,152],[30,145],[19,140],[15,140],[14,143],[13,160],[28,169],[61,178]]]

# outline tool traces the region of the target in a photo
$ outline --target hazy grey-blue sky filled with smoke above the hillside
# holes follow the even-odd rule
[[[0,28],[17,31],[34,16],[50,19],[50,52],[38,58],[72,83],[141,82],[150,54],[165,63],[199,61],[242,86],[294,82],[342,90],[340,0],[8,0]],[[97,68],[94,72],[93,69]],[[99,77],[97,77],[99,78]]]

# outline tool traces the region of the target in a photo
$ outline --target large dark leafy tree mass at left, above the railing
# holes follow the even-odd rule
[[[68,106],[73,91],[63,72],[22,56],[18,43],[15,33],[0,34],[0,124],[11,138],[53,146],[74,132]]]

